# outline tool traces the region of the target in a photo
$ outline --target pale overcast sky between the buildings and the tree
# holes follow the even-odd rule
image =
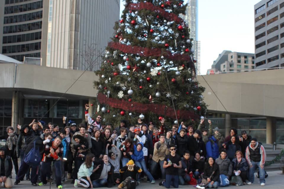
[[[254,53],[254,5],[259,1],[199,0],[201,74],[206,74],[223,50]]]

